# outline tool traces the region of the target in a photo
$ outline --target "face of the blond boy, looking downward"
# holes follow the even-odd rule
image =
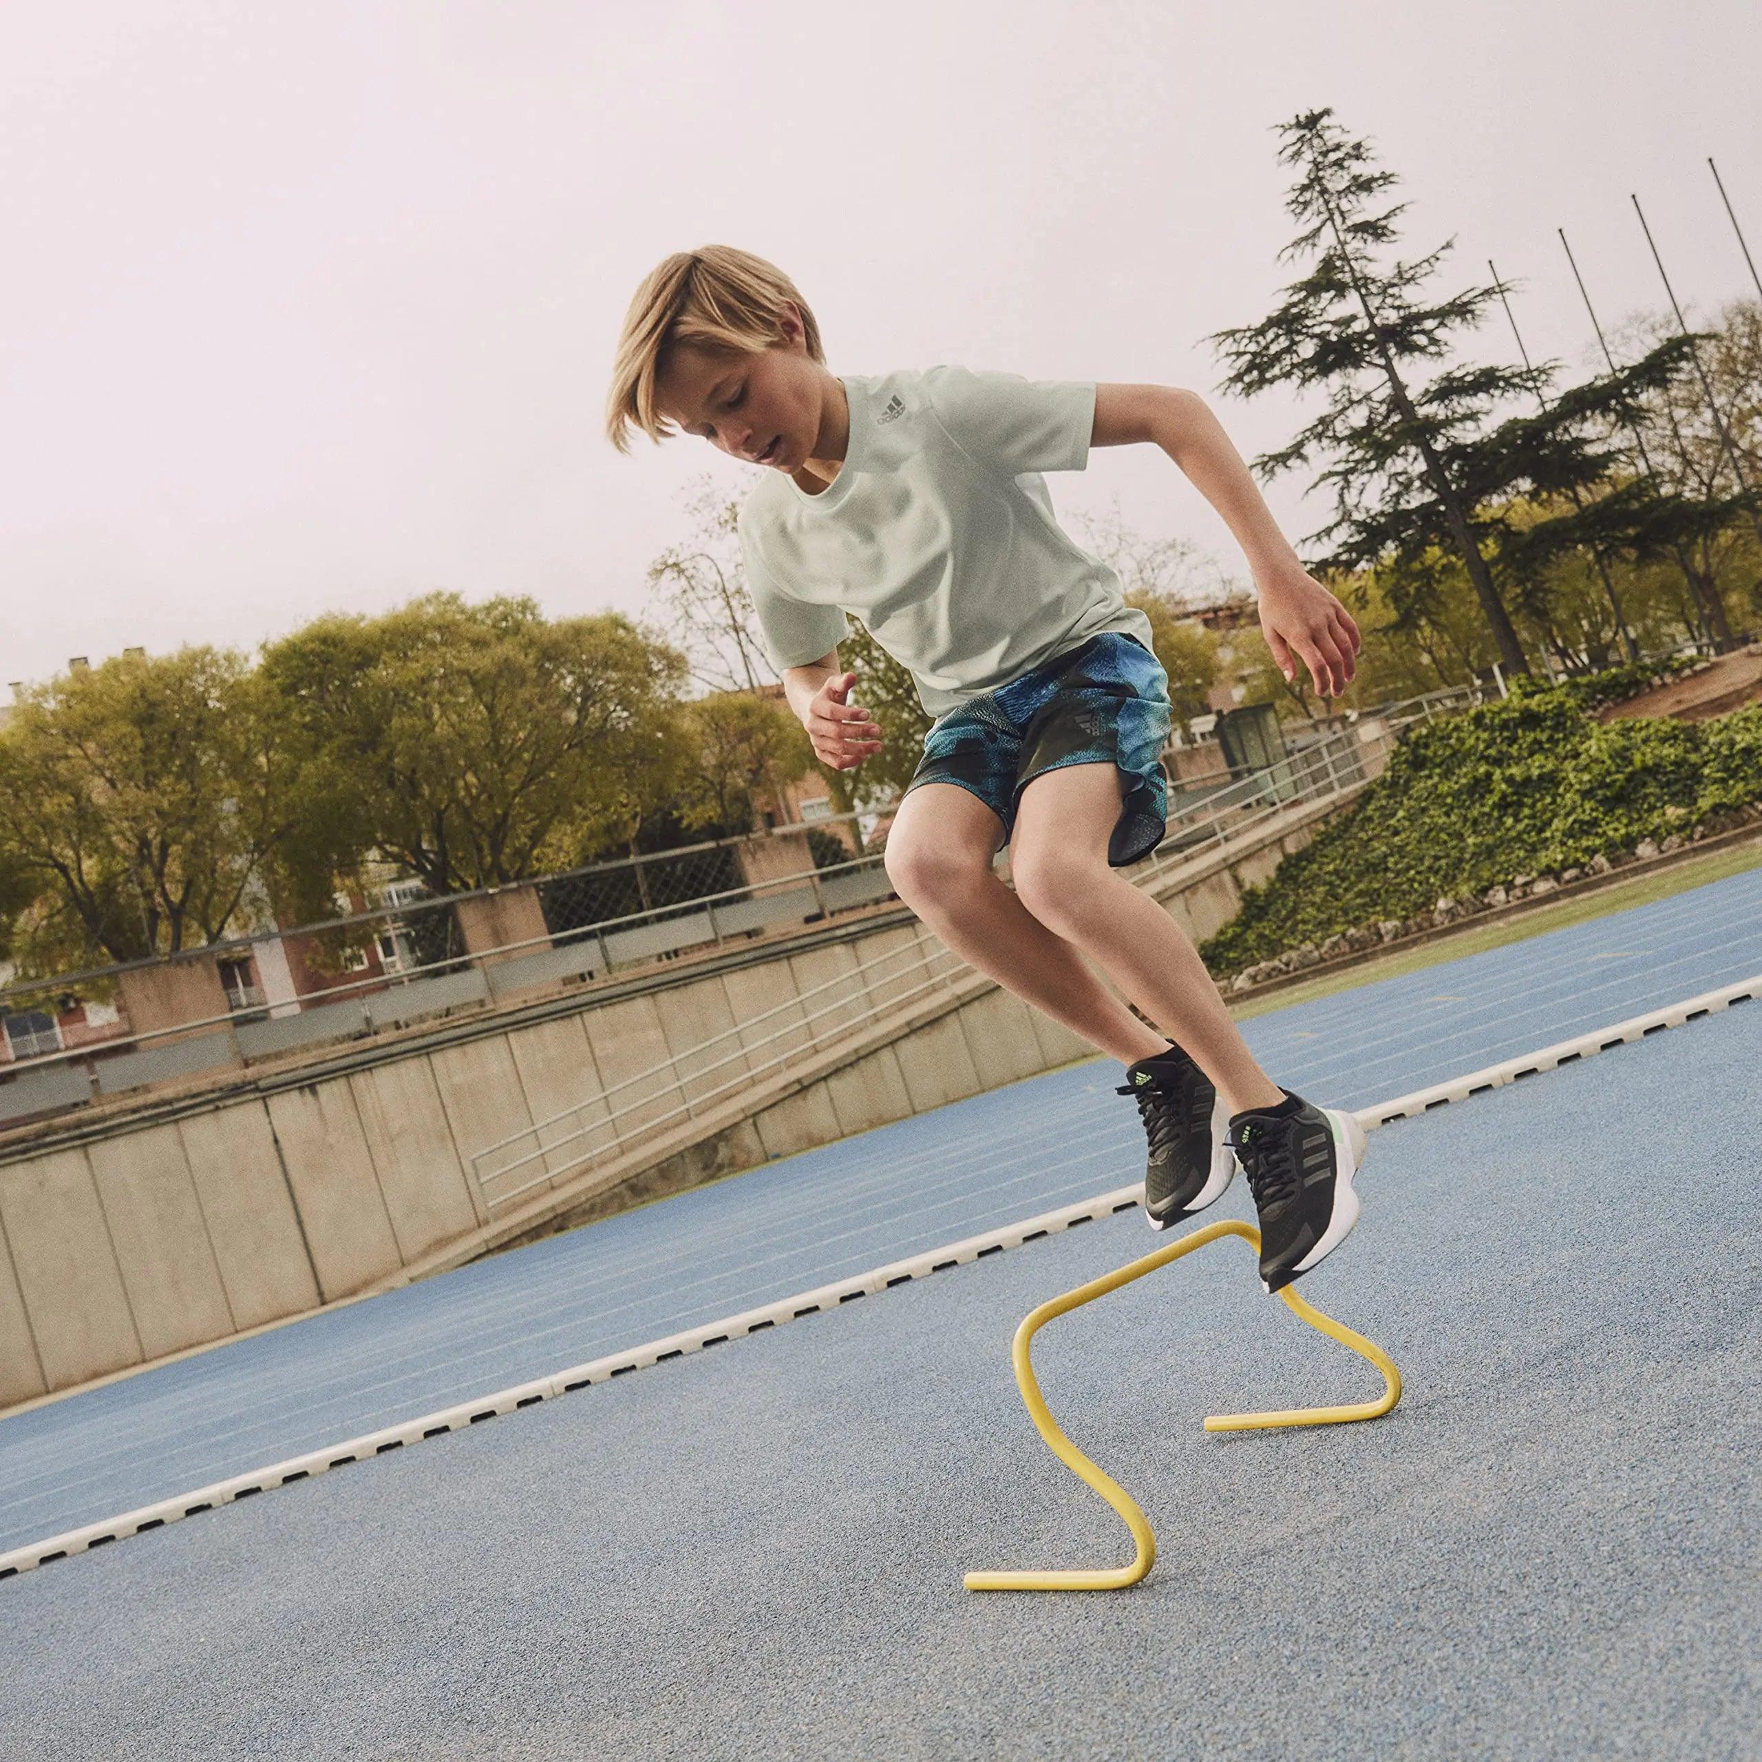
[[[809,356],[793,305],[781,328],[782,340],[759,354],[668,351],[655,379],[661,414],[742,463],[798,472],[816,456],[837,381]]]

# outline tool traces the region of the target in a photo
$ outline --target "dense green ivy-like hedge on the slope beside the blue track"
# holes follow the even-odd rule
[[[1244,893],[1235,922],[1202,946],[1205,964],[1239,973],[1762,802],[1762,705],[1711,722],[1596,722],[1581,705],[1614,700],[1586,684],[1531,687],[1413,729],[1344,816]]]

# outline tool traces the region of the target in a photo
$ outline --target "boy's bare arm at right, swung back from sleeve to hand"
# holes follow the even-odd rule
[[[1260,627],[1279,671],[1297,678],[1293,655],[1316,689],[1337,698],[1359,666],[1359,626],[1351,613],[1297,560],[1230,444],[1223,425],[1196,391],[1177,386],[1096,386],[1089,444],[1154,440],[1191,479],[1235,534],[1255,576]]]

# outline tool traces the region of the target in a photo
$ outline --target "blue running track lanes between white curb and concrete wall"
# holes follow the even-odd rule
[[[1246,1025],[1367,1107],[1762,971],[1762,869]],[[1092,1059],[0,1420],[0,1551],[1144,1173]]]

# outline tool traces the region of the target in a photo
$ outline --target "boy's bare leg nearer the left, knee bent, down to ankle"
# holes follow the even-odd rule
[[[1140,1022],[997,877],[999,839],[1003,821],[971,789],[920,784],[893,816],[888,879],[962,960],[1101,1052],[1122,1064],[1166,1052],[1166,1038]]]

